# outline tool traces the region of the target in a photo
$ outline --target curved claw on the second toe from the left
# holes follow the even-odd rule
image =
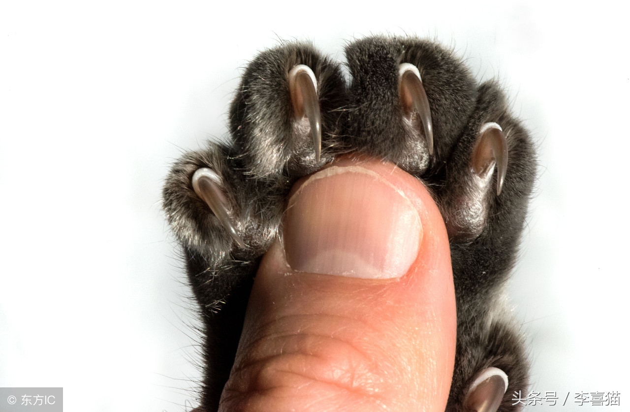
[[[289,90],[295,118],[306,116],[311,123],[311,135],[315,149],[315,159],[321,157],[321,113],[317,95],[315,74],[304,64],[295,65],[289,72]]]

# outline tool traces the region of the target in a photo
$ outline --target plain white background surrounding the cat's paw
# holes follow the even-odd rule
[[[66,411],[195,404],[194,305],[161,186],[226,134],[239,74],[278,39],[343,59],[370,33],[454,45],[498,76],[539,146],[511,286],[532,389],[630,404],[630,69],[621,2],[3,2],[0,386],[64,387]],[[0,399],[0,402],[2,399]]]

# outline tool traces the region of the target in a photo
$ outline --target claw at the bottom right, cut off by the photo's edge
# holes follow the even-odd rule
[[[464,399],[467,411],[496,412],[508,388],[508,376],[503,370],[490,367],[477,375]]]

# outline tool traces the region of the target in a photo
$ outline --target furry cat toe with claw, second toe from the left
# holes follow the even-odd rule
[[[230,110],[245,173],[265,180],[304,176],[341,149],[341,68],[307,43],[265,50],[246,68]]]

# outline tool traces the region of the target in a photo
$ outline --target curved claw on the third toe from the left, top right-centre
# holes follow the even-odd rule
[[[398,86],[401,101],[407,110],[411,107],[418,112],[425,131],[429,154],[433,154],[433,122],[427,93],[422,86],[422,79],[418,67],[410,63],[403,63],[398,68]]]

